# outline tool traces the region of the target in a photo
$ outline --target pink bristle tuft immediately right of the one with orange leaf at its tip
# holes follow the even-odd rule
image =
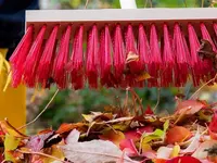
[[[150,49],[151,49],[151,55],[148,66],[149,66],[149,73],[153,78],[149,79],[148,85],[149,87],[158,87],[159,83],[157,78],[159,77],[162,55],[161,55],[159,41],[155,24],[151,25]]]

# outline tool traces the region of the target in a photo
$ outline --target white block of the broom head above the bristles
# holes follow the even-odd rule
[[[26,22],[113,22],[113,21],[217,20],[217,8],[31,10]]]

